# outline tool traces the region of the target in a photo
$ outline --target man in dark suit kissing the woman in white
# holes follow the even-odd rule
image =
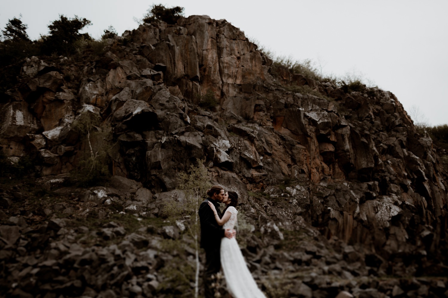
[[[205,250],[205,271],[204,271],[204,287],[205,297],[215,297],[215,291],[211,287],[213,283],[212,275],[221,269],[220,246],[221,238],[227,237],[231,239],[234,235],[233,231],[224,230],[215,220],[215,214],[208,206],[208,201],[215,205],[216,212],[221,218],[220,202],[224,199],[224,189],[215,185],[207,191],[208,198],[199,206],[199,219],[201,221],[201,248]]]

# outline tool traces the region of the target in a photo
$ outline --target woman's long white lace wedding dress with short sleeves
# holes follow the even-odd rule
[[[232,215],[224,223],[224,229],[233,229],[237,223],[237,209],[230,206],[226,212]],[[246,261],[241,253],[235,237],[221,240],[221,267],[224,272],[227,289],[233,298],[265,298],[263,292],[258,289],[254,277],[247,268]]]

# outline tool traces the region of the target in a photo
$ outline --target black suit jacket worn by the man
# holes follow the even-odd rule
[[[199,206],[199,219],[201,222],[201,247],[204,249],[220,248],[221,238],[224,237],[224,229],[215,220],[215,214],[208,206],[208,201],[215,205],[216,212],[221,218],[219,202],[207,198]]]

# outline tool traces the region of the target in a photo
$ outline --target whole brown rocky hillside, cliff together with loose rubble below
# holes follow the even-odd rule
[[[39,184],[68,198],[26,210],[14,207],[26,200],[17,186],[2,188],[0,212],[9,219],[0,226],[0,268],[15,283],[2,285],[4,293],[174,293],[160,287],[170,256],[157,239],[182,239],[182,225],[130,233],[110,221],[95,230],[56,213],[108,218],[112,204],[159,218],[163,202],[182,197],[177,173],[197,159],[211,181],[240,194],[254,232],[243,236],[243,252],[271,297],[280,297],[271,273],[290,297],[445,292],[446,280],[421,277],[448,273],[445,153],[418,134],[391,92],[292,73],[238,28],[207,16],[144,24],[105,49],[85,63],[30,57],[20,84],[2,95],[3,154],[12,162],[32,156]],[[81,119],[99,119],[89,141]],[[70,186],[92,147],[107,148],[111,184]],[[83,234],[123,241],[89,247]],[[396,278],[377,279],[384,276]]]

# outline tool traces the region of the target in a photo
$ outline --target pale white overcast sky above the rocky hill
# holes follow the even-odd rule
[[[99,38],[138,27],[152,2],[144,0],[3,0],[0,28],[19,17],[31,39],[47,34],[59,15],[92,21],[83,32]],[[160,2],[154,2],[159,4]],[[324,74],[362,73],[391,91],[429,125],[447,124],[447,0],[165,0],[185,16],[226,19],[276,55],[321,62]]]

